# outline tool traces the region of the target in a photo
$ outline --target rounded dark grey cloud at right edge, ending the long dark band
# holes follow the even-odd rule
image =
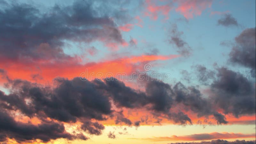
[[[217,79],[211,84],[215,104],[238,117],[255,114],[255,87],[246,77],[227,68],[217,69]]]

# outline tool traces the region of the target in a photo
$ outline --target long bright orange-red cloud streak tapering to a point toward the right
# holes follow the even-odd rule
[[[89,73],[94,72],[96,74],[101,72],[104,75],[108,72],[114,74],[114,76],[117,72],[126,72],[127,74],[131,74],[141,67],[139,64],[142,62],[169,60],[177,57],[179,57],[179,55],[141,55],[87,64],[80,64],[81,60],[78,58],[53,62],[50,60],[34,62],[5,60],[0,63],[0,67],[6,71],[6,74],[10,79],[18,78],[26,79],[28,81],[48,83],[52,82],[52,79],[58,76],[70,79],[78,77],[80,76],[80,73],[85,71],[85,69],[88,69]]]

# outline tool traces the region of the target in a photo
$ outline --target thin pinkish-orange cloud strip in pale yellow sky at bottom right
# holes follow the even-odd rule
[[[212,132],[212,133],[200,133],[191,134],[184,136],[173,135],[171,137],[155,137],[147,138],[147,140],[152,141],[192,141],[192,140],[214,140],[214,139],[238,139],[238,138],[255,138],[255,133],[253,134],[242,134],[242,133],[228,133],[228,132]]]

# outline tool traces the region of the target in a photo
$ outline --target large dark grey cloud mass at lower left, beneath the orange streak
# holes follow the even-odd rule
[[[57,78],[55,79],[55,84],[55,88],[50,88],[28,81],[13,80],[10,82],[12,93],[6,95],[0,92],[1,111],[19,110],[25,116],[38,117],[43,122],[47,120],[47,117],[60,122],[60,124],[49,122],[49,126],[46,125],[48,123],[43,123],[42,127],[48,127],[49,129],[47,130],[50,131],[45,130],[44,132],[41,130],[41,127],[37,128],[38,126],[33,124],[21,125],[24,129],[22,130],[18,127],[20,126],[18,122],[12,120],[10,121],[13,123],[12,125],[15,126],[16,123],[18,125],[17,127],[13,127],[13,131],[16,133],[12,132],[4,135],[4,138],[13,137],[19,141],[34,139],[49,141],[57,138],[87,140],[88,138],[82,134],[73,136],[73,134],[66,132],[63,124],[61,124],[61,122],[74,123],[77,120],[83,123],[81,129],[85,132],[95,135],[101,134],[104,126],[97,122],[91,122],[90,120],[104,120],[106,119],[105,115],[112,113],[108,97],[96,91],[93,83],[81,81],[79,78],[74,78],[73,80]],[[29,102],[26,102],[26,100],[29,100]],[[12,117],[9,116],[10,118]],[[1,124],[4,124],[4,122]],[[9,132],[8,129],[3,129],[4,127],[4,125],[0,126],[0,129],[2,129],[0,132]],[[32,129],[31,138],[29,137],[30,133],[26,133],[30,127]],[[35,137],[32,137],[33,133],[35,133]],[[19,137],[16,138],[16,135]]]

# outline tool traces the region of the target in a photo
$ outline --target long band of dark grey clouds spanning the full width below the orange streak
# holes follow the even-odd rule
[[[208,70],[204,69],[199,72],[204,73],[204,71]],[[205,97],[195,86],[185,86],[180,82],[171,86],[157,80],[143,82],[145,92],[125,86],[123,82],[114,78],[112,80],[107,78],[103,81],[81,81],[78,77],[72,80],[56,78],[54,87],[18,79],[9,80],[7,85],[9,85],[11,92],[10,94],[0,92],[0,110],[20,111],[25,116],[36,116],[47,124],[50,123],[47,122],[47,117],[49,117],[57,121],[54,124],[57,124],[58,127],[62,122],[75,123],[80,121],[82,122],[80,129],[94,135],[100,135],[104,126],[99,122],[92,121],[92,119],[102,121],[111,118],[115,119],[116,124],[133,124],[124,116],[123,111],[113,111],[110,101],[113,101],[117,108],[136,109],[144,107],[157,118],[158,122],[167,118],[182,125],[192,124],[188,115],[181,112],[183,110],[192,111],[197,114],[197,117],[213,116],[218,124],[227,124],[227,121],[225,116],[216,111],[216,106],[223,109],[225,114],[233,114],[236,117],[255,114],[255,88],[253,84],[242,74],[227,68],[217,68],[216,71],[216,77],[213,78],[212,84],[208,84],[214,93],[210,97]],[[12,117],[9,116],[10,118]],[[147,121],[147,118],[143,121]],[[10,122],[18,123],[14,120]],[[134,125],[139,126],[140,123],[140,121],[135,121]],[[4,125],[1,125],[0,129],[2,127],[4,128]],[[20,128],[14,127],[13,129],[17,133],[8,135],[4,135],[7,129],[3,129],[2,133],[0,132],[1,139],[4,141],[7,137],[18,135]],[[44,138],[38,139],[43,141],[57,138],[87,139],[81,134],[74,135],[66,132],[63,128],[61,129],[59,137],[45,134]],[[65,135],[63,136],[62,133]],[[22,136],[21,134],[20,138],[14,138],[20,141],[34,140],[34,137],[26,139],[24,136],[22,139]]]

